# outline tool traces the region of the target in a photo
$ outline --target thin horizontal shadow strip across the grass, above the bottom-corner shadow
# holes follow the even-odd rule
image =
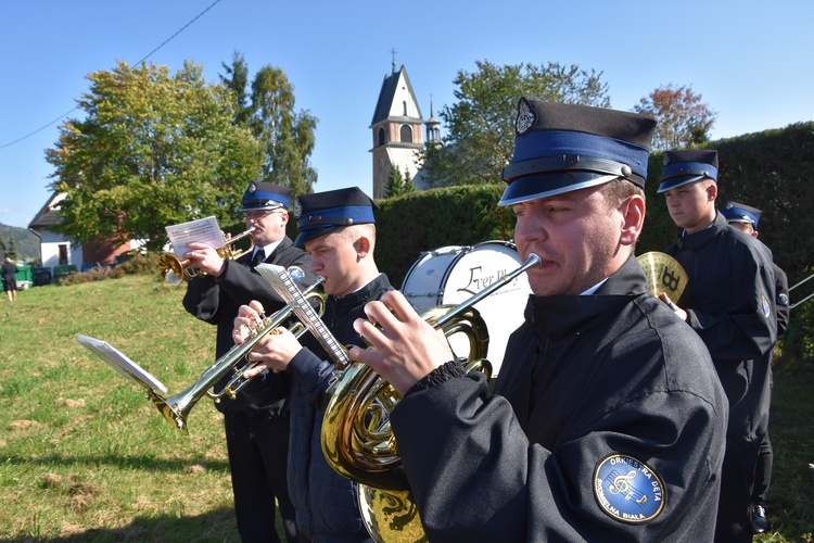
[[[3,457],[3,464],[7,465],[41,465],[41,466],[118,466],[128,468],[139,468],[152,471],[175,471],[183,469],[193,464],[201,464],[211,470],[229,470],[229,463],[226,460],[208,460],[203,458],[181,459],[162,459],[150,456],[68,456],[68,455],[49,455],[31,458],[30,456],[9,455]]]

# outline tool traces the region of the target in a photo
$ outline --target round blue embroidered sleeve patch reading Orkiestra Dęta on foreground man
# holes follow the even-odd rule
[[[624,454],[611,454],[597,465],[594,496],[610,517],[632,523],[658,517],[666,497],[658,473]]]

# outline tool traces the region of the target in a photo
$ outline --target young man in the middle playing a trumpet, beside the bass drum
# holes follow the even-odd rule
[[[311,269],[325,280],[328,294],[322,321],[343,345],[360,345],[354,321],[365,315],[365,304],[393,289],[373,257],[376,248],[376,204],[357,187],[297,198],[297,247],[311,255]],[[246,327],[255,323],[256,302],[240,308],[234,319],[236,341],[245,339]],[[328,388],[333,383],[334,361],[310,334],[302,344],[288,330],[268,334],[249,353],[258,363],[246,371],[254,376],[271,368],[290,375],[291,449],[289,489],[296,508],[302,541],[370,542],[356,504],[355,484],[338,475],[322,454],[321,431],[328,405]],[[246,388],[250,397],[262,397],[262,381]]]

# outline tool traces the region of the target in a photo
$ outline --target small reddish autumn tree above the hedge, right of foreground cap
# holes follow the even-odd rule
[[[633,111],[658,122],[652,142],[656,151],[703,147],[717,116],[691,87],[675,88],[672,83],[639,100]]]

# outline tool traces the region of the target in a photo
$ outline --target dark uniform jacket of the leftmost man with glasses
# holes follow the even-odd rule
[[[206,323],[217,325],[217,340],[215,356],[220,358],[232,346],[232,329],[238,308],[246,305],[252,300],[263,304],[266,315],[271,315],[281,310],[285,303],[277,295],[271,286],[257,272],[251,267],[252,254],[247,253],[236,261],[227,261],[226,269],[220,276],[200,276],[191,279],[183,296],[183,307]],[[316,276],[310,270],[310,255],[294,247],[294,242],[285,237],[280,241],[274,252],[264,261],[284,268],[296,266],[306,275],[301,288],[305,289],[314,285]],[[242,361],[240,365],[244,364]],[[264,416],[288,416],[290,383],[283,374],[275,375],[277,380],[276,392],[268,394],[266,402],[254,404],[249,402],[244,394],[238,394],[234,400],[224,397],[215,406],[221,413],[251,412]],[[233,377],[232,372],[217,383],[220,390],[228,379]],[[279,379],[278,379],[279,377]]]

